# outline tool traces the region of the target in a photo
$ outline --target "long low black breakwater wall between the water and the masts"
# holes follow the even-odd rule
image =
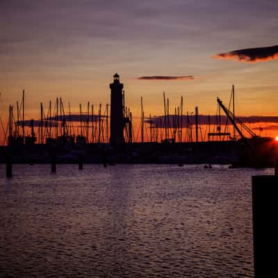
[[[191,143],[126,143],[118,147],[109,144],[85,145],[13,145],[0,148],[0,161],[6,155],[13,163],[77,163],[79,155],[84,163],[238,163],[240,145],[234,141]]]

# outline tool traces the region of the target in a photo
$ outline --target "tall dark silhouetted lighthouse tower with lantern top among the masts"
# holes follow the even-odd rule
[[[112,145],[121,145],[124,142],[124,119],[122,106],[122,88],[120,76],[113,76],[111,88],[111,118],[110,118],[110,142]]]

